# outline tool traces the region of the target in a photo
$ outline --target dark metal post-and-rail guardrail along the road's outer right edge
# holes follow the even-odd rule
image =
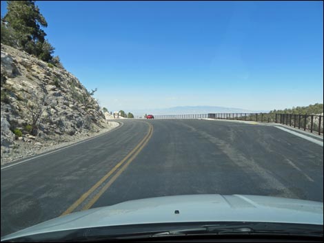
[[[135,116],[144,118],[144,116]],[[209,114],[178,114],[178,115],[157,115],[155,119],[192,119],[212,118],[223,120],[249,120],[260,123],[281,123],[303,129],[304,131],[323,134],[323,116],[301,115],[301,114],[279,114],[279,113],[209,113]]]

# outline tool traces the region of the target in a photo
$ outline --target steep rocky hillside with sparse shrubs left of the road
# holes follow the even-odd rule
[[[15,149],[106,127],[97,101],[58,67],[1,43],[1,160]]]

